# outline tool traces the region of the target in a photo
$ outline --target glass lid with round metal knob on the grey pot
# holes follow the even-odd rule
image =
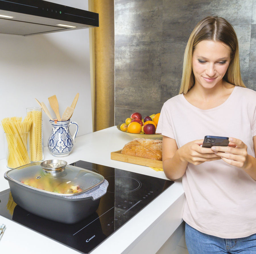
[[[100,174],[66,161],[49,160],[34,162],[5,173],[7,180],[55,195],[72,196],[91,190],[104,182]]]

